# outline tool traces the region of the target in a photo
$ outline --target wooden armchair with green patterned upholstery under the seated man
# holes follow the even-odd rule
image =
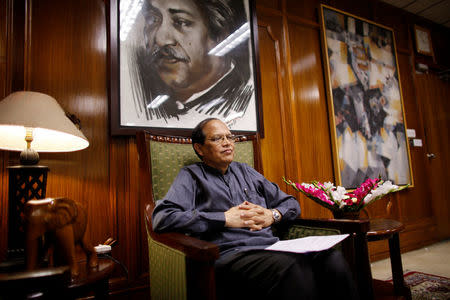
[[[151,299],[215,299],[214,263],[217,245],[180,233],[158,234],[152,230],[151,215],[155,199],[162,199],[181,167],[199,161],[191,140],[183,137],[137,133],[140,197],[147,203],[145,224],[149,247]],[[260,170],[256,135],[236,142],[235,160]],[[339,245],[357,279],[362,299],[372,299],[372,276],[368,257],[367,220],[297,219],[275,228],[282,239],[308,235],[349,233]]]

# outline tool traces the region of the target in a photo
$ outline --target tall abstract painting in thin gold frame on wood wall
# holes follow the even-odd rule
[[[392,29],[321,5],[337,184],[413,185]]]

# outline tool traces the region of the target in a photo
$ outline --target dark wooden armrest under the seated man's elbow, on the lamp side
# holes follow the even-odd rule
[[[182,233],[155,233],[151,237],[170,248],[183,252],[187,258],[198,261],[214,261],[219,258],[219,246]]]

